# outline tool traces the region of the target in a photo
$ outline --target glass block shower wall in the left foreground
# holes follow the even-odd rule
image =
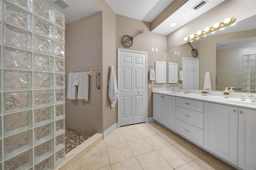
[[[0,169],[65,159],[65,16],[39,0],[0,0]]]

